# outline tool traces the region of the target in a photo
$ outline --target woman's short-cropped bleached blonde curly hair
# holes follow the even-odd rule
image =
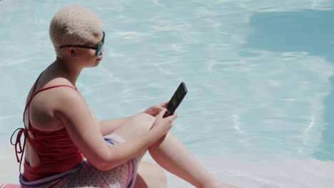
[[[60,46],[84,45],[102,32],[102,20],[93,11],[80,5],[64,6],[56,12],[49,27],[51,42],[59,57],[64,55]]]

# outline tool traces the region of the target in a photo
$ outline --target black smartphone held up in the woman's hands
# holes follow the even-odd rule
[[[183,98],[186,96],[188,90],[185,83],[181,83],[178,85],[178,89],[176,89],[176,92],[172,96],[171,100],[168,101],[168,104],[166,106],[167,111],[163,117],[168,117],[169,115],[173,115],[176,108],[178,108],[178,105],[181,104]]]

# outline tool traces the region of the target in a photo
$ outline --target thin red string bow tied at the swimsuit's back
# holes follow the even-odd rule
[[[19,132],[17,132],[19,131]],[[15,143],[13,142],[13,136],[17,132],[16,135],[16,141]],[[24,156],[24,148],[26,147],[26,136],[28,134],[28,131],[25,128],[18,128],[16,129],[13,134],[11,135],[11,145],[15,146],[15,154],[16,154],[16,160],[17,162],[20,163],[19,171],[21,174],[21,163],[22,163],[22,158]],[[24,135],[24,144],[21,145],[21,136]],[[21,155],[21,156],[19,156]]]

